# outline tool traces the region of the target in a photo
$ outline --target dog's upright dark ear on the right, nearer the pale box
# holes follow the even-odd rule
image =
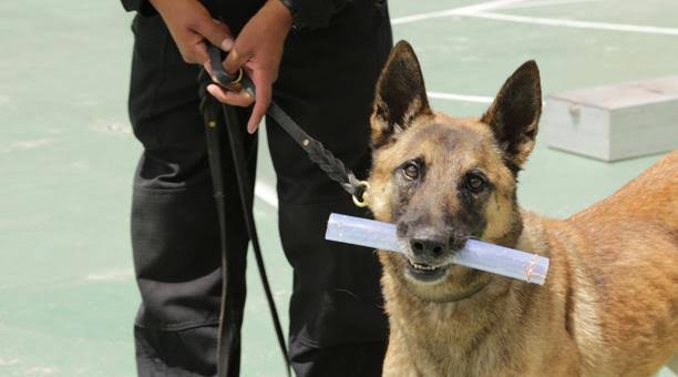
[[[490,125],[506,163],[517,172],[534,147],[540,115],[542,85],[534,60],[521,65],[506,80],[482,122]]]

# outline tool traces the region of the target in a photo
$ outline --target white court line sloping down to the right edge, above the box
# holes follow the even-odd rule
[[[492,12],[473,12],[473,13],[459,14],[459,16],[474,17],[474,18],[482,18],[482,19],[497,20],[497,21],[544,24],[544,26],[551,26],[551,27],[567,27],[567,28],[578,28],[578,29],[628,31],[628,32],[647,33],[647,34],[678,35],[678,29],[644,27],[644,26],[626,24],[626,23],[607,23],[607,22],[576,21],[576,20],[567,20],[567,19],[548,19],[548,18],[536,18],[536,17],[525,17],[525,16],[500,14],[500,13],[492,13]]]

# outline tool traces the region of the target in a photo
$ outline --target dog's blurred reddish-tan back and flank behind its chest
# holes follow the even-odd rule
[[[565,223],[597,296],[598,347],[619,375],[651,374],[678,345],[678,151]]]

